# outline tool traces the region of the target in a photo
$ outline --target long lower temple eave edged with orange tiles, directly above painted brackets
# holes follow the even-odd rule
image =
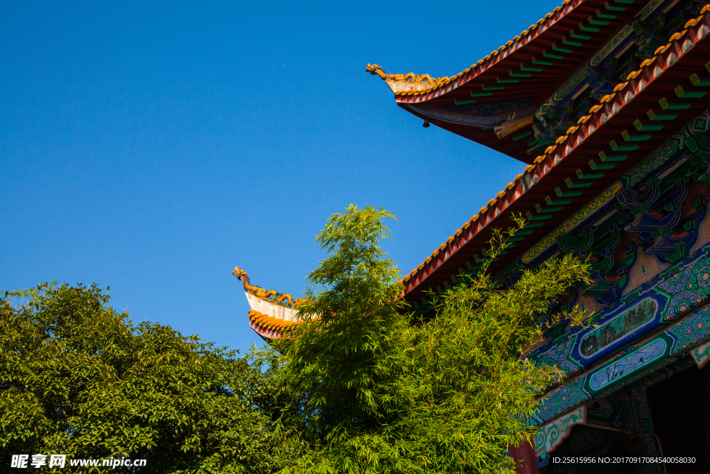
[[[613,93],[601,97],[576,126],[405,276],[405,298],[417,301],[427,289],[457,283],[457,275],[477,271],[491,229],[509,227],[513,212],[530,222],[519,237],[524,242],[494,262],[491,271],[523,252],[524,259],[534,259],[537,247],[550,238],[554,242],[555,232],[564,232],[570,222],[586,217],[580,213],[611,198],[618,178],[707,109],[710,41],[704,40],[710,33],[709,9],[704,6],[700,16],[687,21],[682,32],[640,63]]]

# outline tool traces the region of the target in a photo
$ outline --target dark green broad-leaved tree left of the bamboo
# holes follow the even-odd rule
[[[258,368],[169,326],[131,325],[108,301],[95,285],[56,284],[0,300],[6,468],[11,454],[63,453],[145,458],[141,473],[274,473],[297,456],[255,408],[275,402]]]

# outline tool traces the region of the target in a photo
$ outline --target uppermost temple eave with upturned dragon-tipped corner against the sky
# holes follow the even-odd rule
[[[530,138],[525,138],[530,133],[515,131],[527,129],[536,109],[569,87],[567,81],[584,72],[580,68],[611,53],[628,36],[631,27],[622,28],[625,23],[643,18],[662,1],[565,0],[519,36],[450,77],[387,74],[378,65],[368,65],[366,70],[386,81],[399,107],[532,163]],[[613,41],[607,43],[610,37]],[[471,119],[470,111],[463,112],[460,106],[475,107],[482,117]]]

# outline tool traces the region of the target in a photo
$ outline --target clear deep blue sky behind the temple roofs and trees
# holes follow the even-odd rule
[[[261,344],[231,271],[300,295],[349,203],[408,273],[524,165],[395,105],[559,1],[3,2],[0,290],[111,286],[133,321]]]

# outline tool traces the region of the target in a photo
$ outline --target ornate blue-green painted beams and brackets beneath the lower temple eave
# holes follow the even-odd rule
[[[693,365],[689,352],[710,340],[709,124],[706,111],[626,173],[588,217],[518,261],[525,268],[574,254],[594,271],[590,286],[551,308],[584,309],[594,327],[562,323],[528,355],[571,379],[547,394],[535,424],[664,367]]]

